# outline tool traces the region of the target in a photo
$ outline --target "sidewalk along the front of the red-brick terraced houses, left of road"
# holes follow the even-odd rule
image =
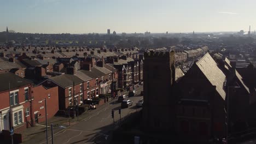
[[[141,86],[140,86],[141,87]],[[138,87],[136,87],[137,89]],[[121,92],[121,94],[128,94],[129,92],[124,91]],[[113,101],[116,101],[117,98],[112,99],[110,101],[108,101],[108,103],[104,103],[103,105],[97,107],[96,110],[90,110],[87,111],[85,113],[83,113],[82,115],[79,115],[78,117],[75,118],[70,118],[70,125],[74,125],[80,121],[83,121],[85,118],[88,118],[92,115],[94,115],[95,113],[97,113],[98,111],[101,111],[102,109],[106,108],[106,106],[108,106],[109,104],[113,103]],[[54,116],[50,119],[48,119],[48,137],[51,136],[51,124],[54,125],[53,129],[54,129],[54,134],[60,132],[61,130],[64,130],[66,128],[69,127],[69,118],[66,117],[61,117],[61,116]],[[22,143],[26,143],[26,141],[33,139],[34,137],[36,137],[38,140],[42,139],[46,139],[45,136],[45,122],[43,123],[39,123],[36,124],[34,127],[30,127],[25,129],[24,131],[22,131],[22,137],[24,137],[24,139],[22,140]]]

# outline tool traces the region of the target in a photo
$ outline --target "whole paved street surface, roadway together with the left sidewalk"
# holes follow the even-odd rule
[[[143,91],[143,86],[139,86],[135,90],[137,91],[137,96],[129,98],[133,101],[133,105],[126,109],[121,109],[121,118],[138,110],[135,105],[139,99],[143,98],[139,95]],[[128,94],[128,92],[124,92],[123,94]],[[121,104],[118,103],[117,99],[114,99],[97,107],[96,110],[91,110],[80,115],[78,121],[77,118],[71,119],[71,125],[69,125],[68,118],[55,117],[53,121],[49,121],[49,125],[51,123],[55,125],[54,143],[109,143],[112,130],[115,127],[113,124],[112,110],[114,110],[114,121],[117,124],[120,119],[118,113],[120,106]],[[45,126],[37,126],[34,129],[35,133],[32,133],[32,136],[30,134],[33,130],[30,131],[30,134],[27,132],[26,139],[24,139],[25,142],[23,143],[46,143]],[[49,128],[48,143],[52,143],[51,130]]]

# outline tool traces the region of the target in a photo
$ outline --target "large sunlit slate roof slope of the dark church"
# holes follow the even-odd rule
[[[224,83],[226,76],[218,68],[217,63],[207,52],[199,61],[196,62],[197,67],[202,71],[206,78],[211,82],[213,86],[216,86],[217,92],[225,99],[226,92],[224,91]]]

